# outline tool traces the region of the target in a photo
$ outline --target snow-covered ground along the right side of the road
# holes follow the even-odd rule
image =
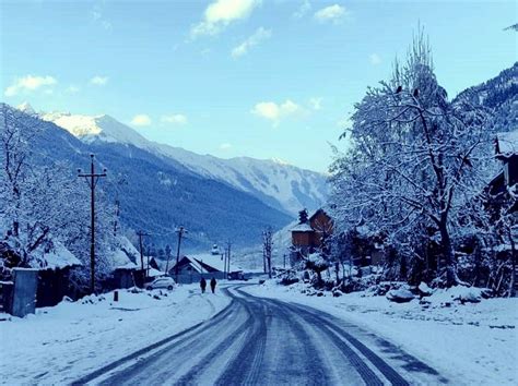
[[[456,385],[511,385],[518,379],[518,299],[490,299],[480,303],[440,303],[445,293],[392,303],[364,292],[308,297],[304,285],[283,287],[273,280],[247,292],[306,304],[372,330],[435,367]]]

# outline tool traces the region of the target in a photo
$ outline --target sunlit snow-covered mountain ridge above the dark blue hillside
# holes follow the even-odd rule
[[[20,107],[34,111],[30,105]],[[278,209],[296,214],[301,208],[316,209],[326,201],[326,176],[301,169],[279,160],[248,157],[222,159],[199,155],[179,147],[144,138],[130,126],[109,116],[80,116],[62,112],[40,113],[85,143],[102,141],[133,145],[155,155],[172,158],[204,178],[225,182],[247,192]]]

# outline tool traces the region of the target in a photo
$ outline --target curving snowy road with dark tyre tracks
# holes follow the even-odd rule
[[[231,304],[163,345],[78,379],[104,385],[438,384],[395,345],[316,310],[223,289]]]

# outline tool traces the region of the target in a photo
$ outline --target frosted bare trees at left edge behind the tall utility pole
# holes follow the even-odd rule
[[[5,267],[45,267],[45,255],[60,242],[80,261],[76,284],[86,284],[90,254],[90,192],[70,166],[56,164],[34,146],[43,134],[37,118],[0,105],[0,242]],[[97,272],[111,269],[115,212],[98,191],[96,210]],[[5,262],[4,256],[9,256]]]

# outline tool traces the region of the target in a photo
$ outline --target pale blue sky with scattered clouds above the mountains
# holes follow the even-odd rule
[[[0,100],[317,171],[419,25],[450,97],[518,58],[515,1],[0,0]]]

